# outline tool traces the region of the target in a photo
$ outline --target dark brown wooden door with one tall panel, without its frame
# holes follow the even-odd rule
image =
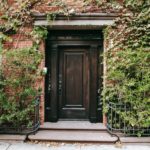
[[[62,47],[59,57],[59,118],[88,119],[88,49]]]

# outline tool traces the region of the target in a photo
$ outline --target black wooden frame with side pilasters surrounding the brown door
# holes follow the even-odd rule
[[[100,30],[99,30],[100,31]],[[50,30],[51,32],[51,30]],[[59,31],[58,31],[59,32]],[[100,35],[99,35],[100,36]],[[102,38],[102,37],[100,37]],[[90,63],[90,97],[89,97],[89,120],[90,122],[102,122],[103,121],[103,115],[102,115],[102,100],[101,104],[98,104],[98,98],[99,98],[99,86],[98,82],[102,84],[102,78],[99,81],[99,73],[103,72],[102,66],[100,67],[99,62],[99,52],[103,52],[103,39],[101,41],[97,41],[94,39],[90,39],[90,41],[80,41],[78,39],[69,39],[68,40],[57,40],[52,42],[47,42],[46,44],[46,65],[47,63],[50,63],[51,67],[48,68],[48,74],[45,79],[45,121],[48,122],[56,122],[58,121],[58,92],[59,92],[59,73],[58,73],[58,63],[59,63],[59,51],[58,47],[61,46],[84,46],[89,48],[89,63]],[[51,59],[49,59],[48,55],[51,55]],[[48,62],[47,62],[48,61]],[[48,67],[48,66],[47,66]],[[50,80],[50,83],[47,83],[48,79]],[[49,85],[47,85],[49,84]],[[101,85],[102,86],[102,85]],[[46,93],[49,91],[49,94]],[[49,98],[48,98],[49,97]]]

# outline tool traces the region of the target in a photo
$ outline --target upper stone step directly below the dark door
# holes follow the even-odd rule
[[[40,126],[40,130],[94,130],[106,131],[102,123],[90,123],[88,121],[59,121],[56,123],[45,122]]]

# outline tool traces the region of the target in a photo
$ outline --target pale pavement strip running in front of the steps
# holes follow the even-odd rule
[[[150,143],[130,145],[84,143],[32,143],[0,141],[0,150],[150,150]]]

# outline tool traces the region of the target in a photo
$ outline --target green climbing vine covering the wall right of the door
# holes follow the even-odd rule
[[[105,32],[104,109],[110,102],[127,106],[126,112],[116,112],[122,122],[129,129],[144,129],[150,127],[150,2],[130,0],[124,7],[128,13]]]

